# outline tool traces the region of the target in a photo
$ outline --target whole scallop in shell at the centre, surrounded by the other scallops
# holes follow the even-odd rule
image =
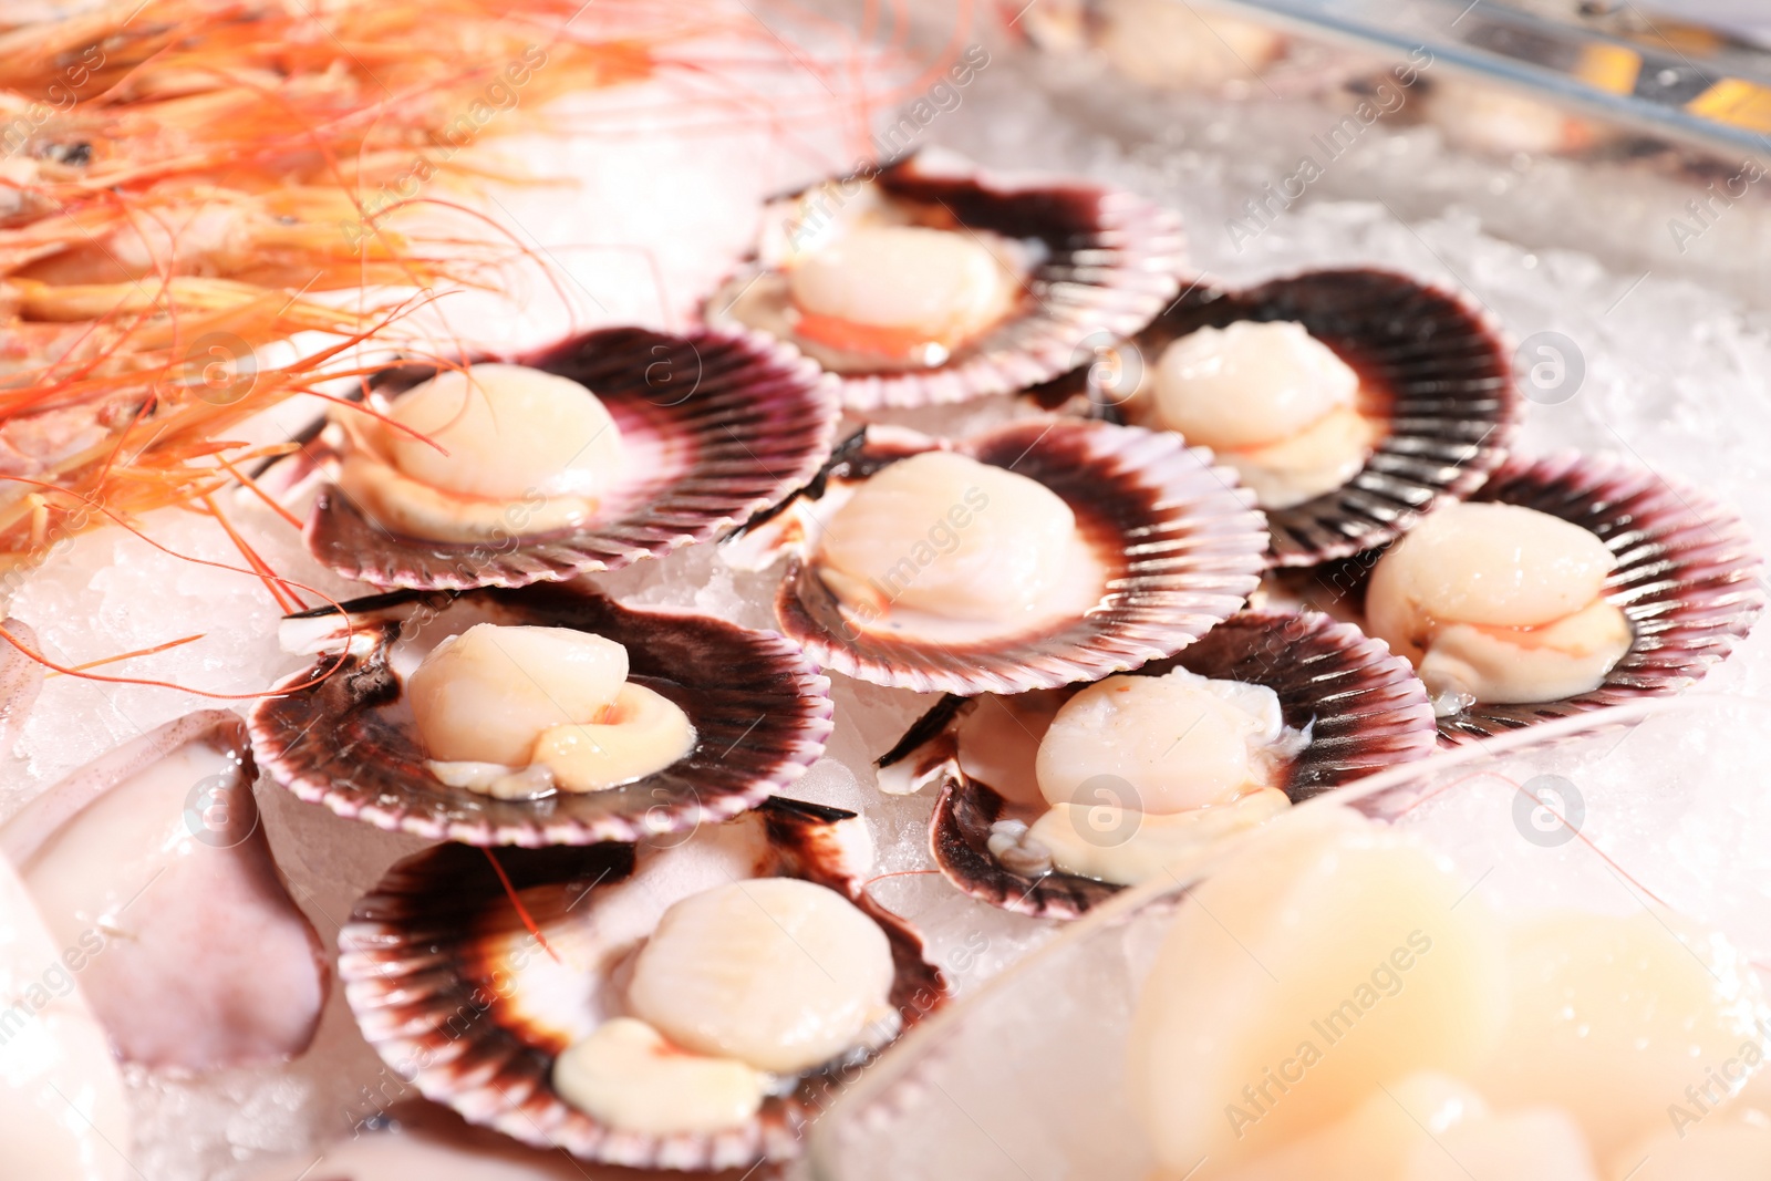
[[[1174,655],[1241,607],[1264,549],[1208,453],[1034,418],[956,443],[868,427],[726,556],[788,554],[776,614],[824,668],[976,694]]]

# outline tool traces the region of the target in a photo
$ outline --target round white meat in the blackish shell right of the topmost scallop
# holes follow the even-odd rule
[[[1358,374],[1302,324],[1236,320],[1162,351],[1156,420],[1213,450],[1272,446],[1353,405]]]

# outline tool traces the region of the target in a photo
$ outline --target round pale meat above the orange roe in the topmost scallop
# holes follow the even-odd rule
[[[800,312],[949,340],[1006,301],[995,255],[969,234],[914,225],[857,228],[788,273]]]

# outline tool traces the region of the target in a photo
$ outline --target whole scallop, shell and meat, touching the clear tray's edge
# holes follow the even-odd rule
[[[939,784],[930,846],[958,889],[1070,919],[1435,745],[1426,687],[1381,643],[1245,611],[1135,675],[946,698],[882,756],[880,790]]]

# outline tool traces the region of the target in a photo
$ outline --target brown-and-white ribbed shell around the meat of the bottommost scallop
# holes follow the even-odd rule
[[[909,1027],[947,997],[940,970],[921,938],[877,907],[861,889],[866,871],[861,820],[797,800],[772,799],[731,825],[703,830],[700,853],[763,825],[765,850],[742,873],[714,868],[705,884],[678,873],[645,892],[662,912],[671,901],[733,876],[799,876],[854,901],[886,931],[896,981],[891,1004]],[[425,1096],[453,1107],[471,1123],[492,1126],[537,1146],[615,1165],[657,1169],[728,1169],[785,1160],[800,1149],[804,1126],[854,1082],[866,1057],[845,1059],[806,1075],[795,1091],[769,1098],[747,1124],[717,1135],[639,1135],[599,1124],[561,1100],[551,1084],[554,1057],[572,1030],[611,1015],[592,988],[574,992],[551,965],[535,972],[540,940],[528,935],[499,875],[524,894],[524,910],[561,961],[618,963],[629,946],[599,922],[607,891],[636,873],[646,857],[678,850],[630,845],[590,848],[478,850],[443,845],[393,866],[365,896],[338,935],[338,972],[363,1036],[402,1078]],[[680,852],[689,852],[687,846]],[[492,861],[496,857],[496,864]],[[526,956],[526,960],[524,960]],[[595,981],[602,983],[602,981]],[[616,1006],[618,1007],[618,1006]],[[600,1013],[599,1013],[600,1009]]]

